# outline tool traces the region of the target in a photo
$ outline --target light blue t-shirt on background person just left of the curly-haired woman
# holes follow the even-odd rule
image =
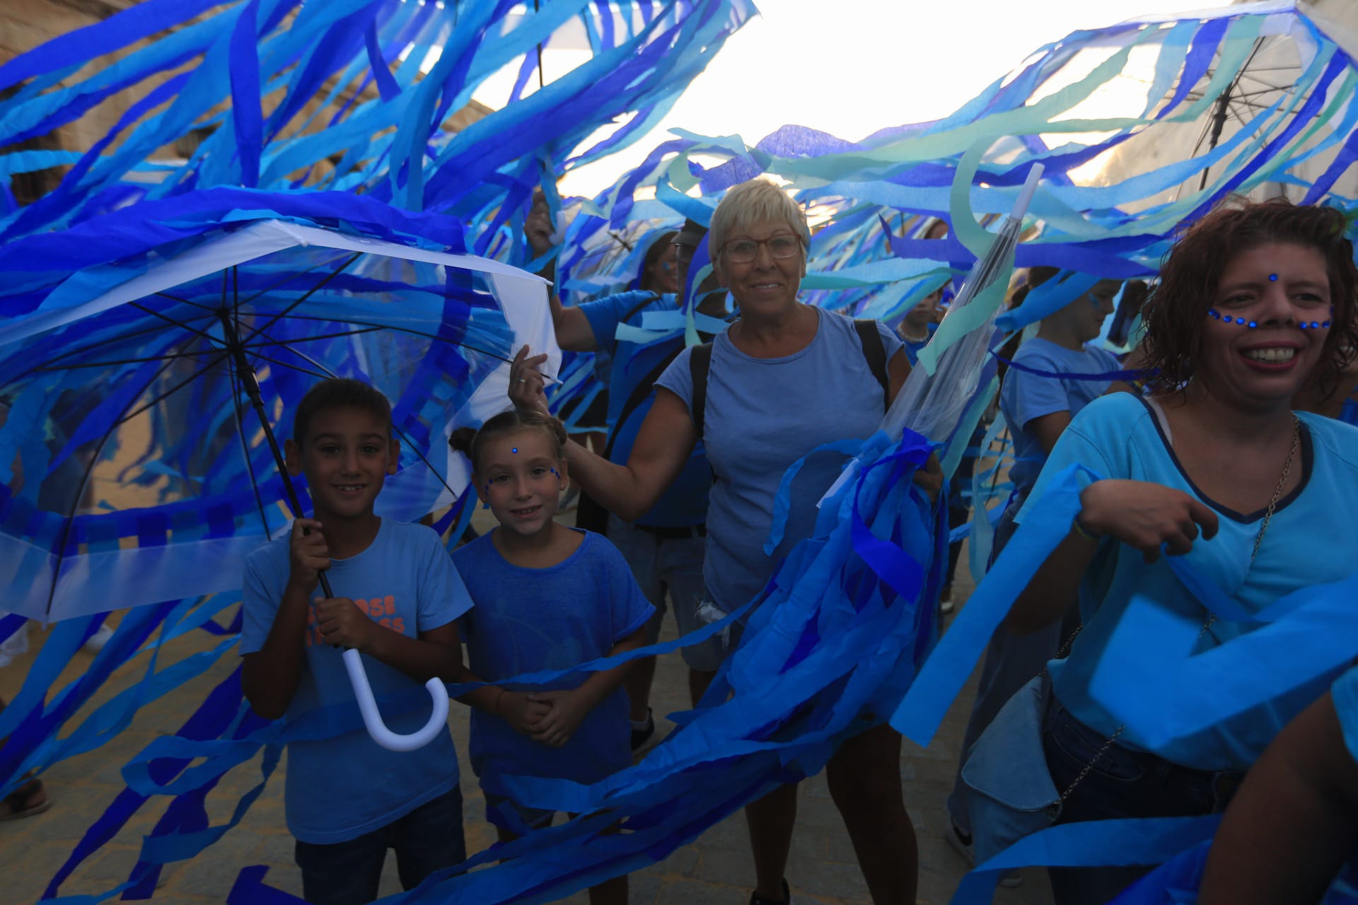
[[[1111,351],[1097,346],[1086,345],[1084,351],[1074,351],[1036,336],[1019,347],[1014,362],[1063,374],[1103,374],[1120,368]],[[1046,450],[1038,442],[1038,434],[1029,430],[1028,423],[1058,411],[1069,411],[1074,418],[1081,408],[1104,395],[1111,383],[1111,380],[1039,377],[1017,368],[1005,372],[1005,383],[999,389],[999,411],[1005,415],[1009,436],[1014,442],[1014,464],[1009,469],[1009,479],[1014,482],[1014,493],[1020,498],[1032,490],[1042,471],[1042,463],[1047,460]]]

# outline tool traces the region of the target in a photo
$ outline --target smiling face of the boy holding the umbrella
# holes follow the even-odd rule
[[[306,475],[316,518],[361,520],[397,474],[399,444],[391,425],[365,408],[331,407],[315,412],[299,446],[287,441],[288,472]]]

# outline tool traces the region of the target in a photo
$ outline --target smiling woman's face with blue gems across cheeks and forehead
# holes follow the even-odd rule
[[[1328,332],[1320,326],[1329,322],[1325,258],[1296,244],[1243,251],[1226,265],[1211,301],[1217,316],[1206,315],[1199,368],[1211,392],[1290,400],[1320,361]]]

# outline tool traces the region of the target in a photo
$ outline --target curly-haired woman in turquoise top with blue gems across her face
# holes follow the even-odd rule
[[[1085,407],[1019,513],[1021,524],[1071,464],[1101,478],[1008,619],[1025,634],[1078,604],[1084,623],[1047,668],[1043,754],[1062,792],[1058,822],[1224,809],[1268,741],[1335,678],[1158,745],[1089,693],[1096,672],[1157,657],[1148,643],[1198,653],[1252,628],[1207,612],[1162,555],[1183,556],[1249,612],[1353,571],[1358,430],[1291,411],[1297,392],[1332,381],[1355,347],[1358,273],[1344,225],[1338,210],[1275,199],[1191,227],[1143,311],[1152,393]],[[1116,631],[1148,617],[1172,628],[1153,640]],[[1139,872],[1054,868],[1052,891],[1058,905],[1105,902]]]

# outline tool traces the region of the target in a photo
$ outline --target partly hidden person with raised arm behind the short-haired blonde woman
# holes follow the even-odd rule
[[[526,225],[527,239],[535,254],[540,255],[550,248],[549,224],[543,201],[535,205]],[[680,232],[667,232],[657,239],[646,252],[640,290],[569,308],[564,307],[557,296],[551,296],[551,322],[561,347],[570,351],[603,351],[611,357],[610,429],[599,450],[608,461],[619,464],[627,461],[637,431],[655,403],[656,380],[684,347],[682,334],[652,343],[619,341],[618,327],[621,324],[641,327],[648,312],[680,309],[676,289],[686,284],[694,248],[705,233],[703,227],[690,220]],[[708,288],[712,289],[710,284]],[[725,317],[725,293],[703,293],[697,311],[713,317]],[[648,644],[653,644],[660,636],[667,597],[674,604],[675,623],[680,635],[705,624],[698,617],[698,608],[702,605],[702,562],[708,543],[710,487],[712,465],[702,444],[698,444],[675,482],[648,512],[625,521],[600,510],[603,524],[593,526],[607,533],[618,547],[631,567],[637,583],[645,592],[646,600],[656,608],[655,617],[646,625]],[[721,643],[718,639],[710,639],[701,644],[690,644],[682,649],[680,655],[689,666],[690,700],[697,704],[721,663]],[[638,661],[636,669],[627,674],[634,754],[644,753],[660,741],[655,714],[649,706],[655,673],[656,661],[648,657]]]

